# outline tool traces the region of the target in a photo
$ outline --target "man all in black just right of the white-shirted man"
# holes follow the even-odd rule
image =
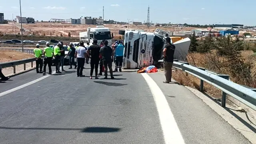
[[[100,46],[97,44],[98,40],[93,40],[93,45],[91,45],[87,50],[87,55],[91,58],[91,71],[90,71],[90,79],[92,79],[93,70],[95,68],[95,79],[98,79],[98,67],[100,61]],[[91,52],[91,56],[90,56]]]

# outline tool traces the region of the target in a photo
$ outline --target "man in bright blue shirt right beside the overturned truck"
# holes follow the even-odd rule
[[[124,58],[124,44],[121,41],[119,41],[118,45],[115,47],[115,58],[116,58],[115,71],[117,72],[119,68],[119,72],[122,72],[122,62]]]

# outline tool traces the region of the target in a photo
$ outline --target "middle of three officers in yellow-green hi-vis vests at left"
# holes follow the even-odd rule
[[[46,73],[46,65],[48,64],[49,74],[52,74],[52,56],[54,55],[53,49],[50,47],[50,42],[46,42],[46,47],[44,48],[44,71],[43,76]],[[57,72],[57,70],[56,70]]]

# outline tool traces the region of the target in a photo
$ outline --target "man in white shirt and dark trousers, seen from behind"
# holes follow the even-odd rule
[[[83,69],[86,56],[84,42],[80,42],[80,46],[76,49],[75,58],[77,58],[77,77],[84,77]]]

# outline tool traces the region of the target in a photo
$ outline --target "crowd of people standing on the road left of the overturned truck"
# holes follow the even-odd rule
[[[123,53],[124,53],[124,45],[121,41],[116,41],[114,44],[112,44],[112,48],[108,46],[107,40],[102,40],[101,44],[98,45],[98,40],[94,39],[93,44],[89,46],[89,42],[87,43],[87,46],[84,46],[84,42],[80,42],[79,44],[74,47],[74,44],[70,42],[70,45],[68,46],[68,55],[69,56],[69,63],[70,68],[72,69],[72,66],[75,66],[75,69],[77,69],[77,76],[83,77],[83,69],[84,64],[89,63],[90,58],[90,79],[92,79],[92,75],[95,69],[95,79],[98,79],[98,75],[102,75],[102,72],[104,71],[104,76],[107,78],[108,69],[110,70],[110,77],[113,79],[113,70],[112,70],[112,62],[115,58],[115,71],[119,72],[122,71],[122,61],[123,61]],[[34,49],[34,54],[36,57],[36,72],[42,73],[43,75],[46,75],[46,66],[48,65],[49,68],[49,74],[52,74],[52,61],[53,58],[55,60],[56,65],[56,73],[60,72],[60,65],[62,68],[62,72],[65,71],[64,66],[64,58],[65,58],[65,50],[63,48],[63,43],[59,42],[54,48],[50,47],[50,43],[46,42],[46,47],[42,51],[39,48],[39,44],[36,45],[36,48]],[[42,56],[44,55],[44,61],[42,60]],[[75,59],[76,62],[75,63]],[[44,64],[44,66],[42,66]],[[100,65],[100,72],[98,73],[98,66]],[[43,70],[42,70],[43,69]]]

